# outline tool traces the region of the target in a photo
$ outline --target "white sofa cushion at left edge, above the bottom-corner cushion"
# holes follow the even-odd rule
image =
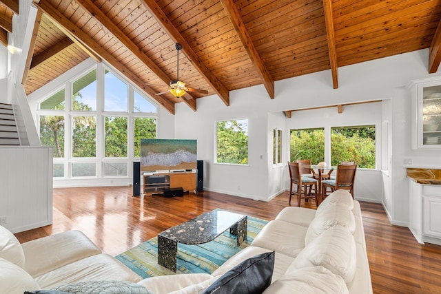
[[[20,267],[25,264],[25,253],[19,240],[2,226],[0,226],[0,258],[9,260]]]

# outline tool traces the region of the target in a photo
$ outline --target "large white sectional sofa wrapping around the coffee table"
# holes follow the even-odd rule
[[[347,191],[338,190],[317,210],[286,207],[280,211],[251,246],[212,275],[141,280],[79,231],[19,244],[0,227],[0,294],[103,280],[134,282],[154,294],[203,293],[234,266],[271,251],[275,251],[274,271],[265,293],[372,293],[360,204]]]

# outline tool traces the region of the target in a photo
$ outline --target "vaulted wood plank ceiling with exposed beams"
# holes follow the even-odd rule
[[[12,19],[7,2],[0,0],[0,19]],[[424,48],[429,72],[441,61],[441,2],[434,0],[34,2],[41,13],[23,76],[28,94],[89,56],[172,114],[174,103],[196,111],[196,99],[212,94],[229,105],[229,91],[259,84],[277,98],[274,81],[322,70],[331,70],[337,88],[338,67]],[[207,95],[156,95],[176,78],[176,42],[180,80]]]

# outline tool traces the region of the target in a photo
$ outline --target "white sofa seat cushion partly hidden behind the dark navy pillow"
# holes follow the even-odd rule
[[[240,262],[243,262],[248,258],[252,258],[255,255],[265,252],[269,252],[269,249],[260,248],[256,246],[247,246],[245,247],[245,249],[240,250],[238,253],[233,255],[232,258],[229,258],[224,264],[219,266],[218,269],[216,269],[216,271],[212,273],[212,275],[218,277],[220,275],[224,275],[234,266],[240,264]],[[282,275],[285,275],[285,272],[287,271],[287,269],[289,268],[289,266],[293,261],[294,258],[292,258],[291,256],[276,252],[276,258],[274,260],[274,270],[273,270],[273,276],[271,282],[274,282]]]

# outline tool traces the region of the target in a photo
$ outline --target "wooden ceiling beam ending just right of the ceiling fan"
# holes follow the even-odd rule
[[[205,64],[199,59],[199,56],[193,51],[187,40],[181,35],[180,32],[174,27],[170,19],[167,18],[165,12],[158,6],[155,0],[141,0],[141,3],[147,8],[147,10],[152,14],[152,17],[161,25],[161,27],[167,32],[170,38],[175,43],[180,43],[182,45],[182,52],[187,56],[192,65],[196,70],[205,78],[205,81],[213,88],[213,90],[218,94],[220,99],[222,99],[225,105],[229,106],[229,91],[220,83],[218,78],[214,76],[211,70],[209,70]]]

